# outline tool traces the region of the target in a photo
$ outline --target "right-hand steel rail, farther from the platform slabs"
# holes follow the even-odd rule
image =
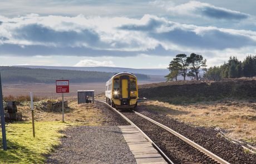
[[[161,124],[161,123],[159,123],[159,122],[156,122],[155,120],[152,120],[152,119],[149,118],[149,117],[146,117],[146,116],[144,116],[144,115],[141,115],[141,113],[138,113],[138,112],[135,112],[135,111],[133,111],[133,112],[136,113],[136,115],[139,115],[139,116],[145,118],[146,120],[148,120],[148,121],[154,123],[155,125],[160,126],[161,128],[164,128],[166,131],[171,132],[173,135],[179,137],[181,140],[183,140],[183,141],[185,141],[185,142],[188,142],[191,146],[193,146],[193,147],[197,148],[199,151],[205,153],[205,154],[208,155],[210,158],[213,158],[213,160],[215,160],[215,161],[217,161],[217,162],[219,162],[219,163],[221,163],[221,164],[230,164],[229,162],[227,162],[227,161],[223,160],[222,158],[216,156],[214,153],[212,153],[212,152],[206,150],[205,148],[201,147],[201,146],[198,145],[197,143],[195,143],[195,142],[189,140],[189,138],[186,138],[185,136],[180,135],[180,133],[178,133],[178,132],[172,130],[171,128],[169,128],[169,127],[167,127],[167,126],[165,126],[165,125],[163,125],[163,124]]]

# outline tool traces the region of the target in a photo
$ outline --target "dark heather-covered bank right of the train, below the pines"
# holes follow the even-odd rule
[[[170,103],[256,97],[256,79],[177,81],[139,86],[139,97]]]

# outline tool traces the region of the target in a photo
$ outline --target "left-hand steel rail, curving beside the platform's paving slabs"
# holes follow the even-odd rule
[[[174,164],[173,161],[170,160],[170,158],[168,156],[165,155],[165,153],[149,138],[149,136],[147,136],[139,127],[137,127],[131,120],[129,120],[127,117],[125,117],[125,115],[123,115],[121,112],[117,111],[115,108],[111,107],[109,104],[107,104],[104,100],[95,100],[95,101],[99,101],[99,102],[103,102],[105,103],[107,106],[109,106],[112,110],[114,110],[115,112],[119,113],[120,116],[122,116],[127,122],[129,122],[132,126],[134,126],[135,128],[137,128],[137,130],[139,130],[142,135],[144,135],[144,137],[146,138],[147,141],[149,141],[151,143],[152,146],[154,146],[156,148],[156,150],[160,153],[160,155],[162,155],[166,162],[170,163],[170,164]]]

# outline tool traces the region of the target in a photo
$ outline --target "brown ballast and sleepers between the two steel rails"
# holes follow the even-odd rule
[[[115,108],[112,108],[112,110],[116,111]],[[127,110],[122,110],[121,113],[139,127],[140,130],[144,132],[162,152],[164,152],[169,158],[169,163],[170,161],[173,163],[228,163],[210,152],[210,154],[204,153],[203,150],[200,150],[200,146],[199,148],[195,148],[187,141],[184,141],[183,138],[180,138],[155,123],[139,116],[141,114],[138,115],[133,111]],[[214,160],[216,158],[218,160]]]

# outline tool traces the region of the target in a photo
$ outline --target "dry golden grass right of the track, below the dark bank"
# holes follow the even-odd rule
[[[154,110],[195,126],[220,127],[228,136],[256,143],[256,103],[246,101],[199,102],[191,105],[171,105],[148,101],[139,108]]]

